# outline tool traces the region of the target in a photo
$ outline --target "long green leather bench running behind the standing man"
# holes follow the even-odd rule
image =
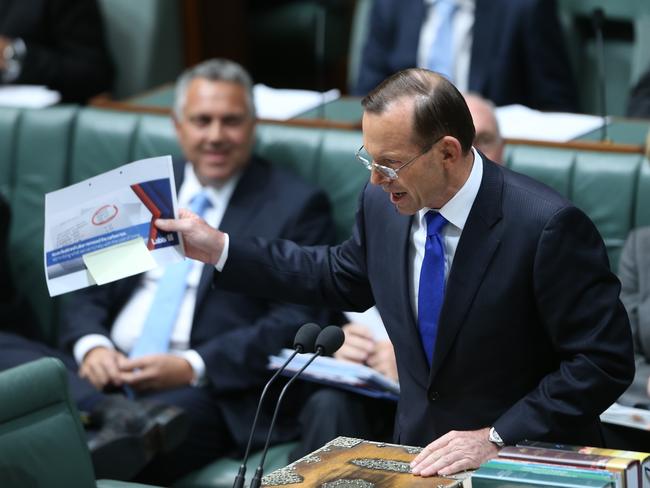
[[[337,235],[344,239],[368,180],[367,170],[354,159],[361,143],[359,131],[260,124],[256,151],[321,186],[333,205]],[[0,191],[14,213],[10,261],[17,286],[37,311],[46,340],[56,338],[59,300],[48,296],[44,280],[44,194],[115,166],[164,154],[180,156],[171,121],[164,116],[74,106],[0,108]],[[602,233],[614,269],[629,230],[650,225],[650,166],[641,155],[512,146],[507,164],[583,208]],[[287,450],[288,446],[275,448],[267,458],[267,472],[286,464]],[[253,461],[249,473],[256,466]],[[230,486],[238,467],[238,460],[217,461],[178,486]]]

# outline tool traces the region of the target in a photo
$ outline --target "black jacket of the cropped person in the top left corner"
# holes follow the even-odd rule
[[[95,0],[54,0],[43,8],[40,23],[47,31],[14,33],[27,47],[16,83],[45,84],[64,102],[83,103],[108,90],[113,68]]]

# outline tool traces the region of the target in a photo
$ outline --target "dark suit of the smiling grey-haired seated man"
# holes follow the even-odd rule
[[[184,163],[175,162],[179,184],[183,167]],[[303,244],[331,242],[333,238],[325,195],[256,157],[244,169],[221,226],[232,235],[295,239]],[[213,460],[224,450],[245,447],[261,385],[269,376],[268,355],[291,345],[303,323],[322,318],[308,307],[215,290],[210,286],[211,277],[212,267],[207,267],[198,287],[190,337],[190,347],[206,364],[209,385],[151,395],[163,403],[179,405],[191,415],[194,426],[189,444],[169,460],[186,468]],[[69,349],[86,334],[108,335],[140,279],[137,276],[75,293],[65,309],[62,345]],[[298,403],[284,402],[287,406]],[[273,405],[267,407],[255,437],[258,447],[266,436]],[[282,420],[283,425],[274,431],[276,441],[297,434],[292,416]]]

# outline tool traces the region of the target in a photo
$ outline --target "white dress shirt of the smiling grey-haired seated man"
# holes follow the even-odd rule
[[[206,209],[203,218],[210,225],[219,227],[239,177],[240,174],[234,176],[218,188],[206,188],[207,197],[212,206]],[[192,198],[203,189],[204,187],[194,174],[192,164],[187,163],[183,184],[178,192],[179,206],[189,208]],[[193,261],[192,268],[187,276],[187,288],[172,331],[169,348],[170,353],[182,356],[192,365],[194,370],[193,384],[200,384],[205,377],[205,362],[195,350],[189,348],[194,308],[196,306],[196,293],[202,270],[202,263]],[[111,328],[110,339],[103,335],[90,334],[80,338],[75,343],[73,352],[77,363],[81,364],[88,351],[98,346],[117,347],[128,354],[142,332],[149,308],[158,289],[158,280],[164,272],[164,268],[155,268],[145,273],[131,298],[116,317]]]

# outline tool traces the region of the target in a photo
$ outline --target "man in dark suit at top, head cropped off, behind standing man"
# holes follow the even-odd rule
[[[354,94],[429,64],[441,4],[375,0]],[[452,81],[496,105],[576,112],[577,90],[554,0],[454,0]],[[431,48],[434,49],[434,48]]]

